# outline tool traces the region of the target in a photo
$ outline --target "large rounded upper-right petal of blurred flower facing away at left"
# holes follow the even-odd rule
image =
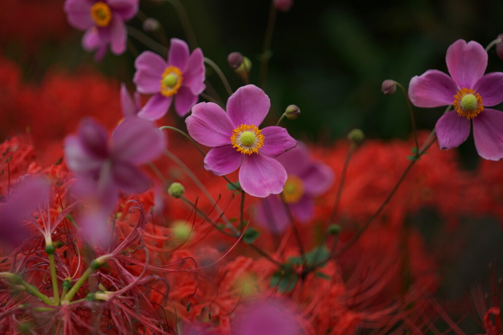
[[[129,163],[148,162],[162,153],[164,133],[144,119],[128,118],[112,134],[113,157]]]

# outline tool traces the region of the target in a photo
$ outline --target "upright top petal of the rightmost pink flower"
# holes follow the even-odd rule
[[[473,88],[484,75],[487,52],[475,41],[466,43],[464,40],[457,40],[447,49],[445,61],[459,88]]]

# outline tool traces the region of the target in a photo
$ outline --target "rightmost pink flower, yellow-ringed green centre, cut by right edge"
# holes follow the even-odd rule
[[[503,73],[484,75],[487,52],[475,41],[454,42],[446,55],[450,77],[428,70],[410,79],[410,101],[418,107],[454,105],[435,126],[440,147],[458,147],[470,135],[480,157],[497,161],[503,157],[503,113],[485,108],[503,101]]]

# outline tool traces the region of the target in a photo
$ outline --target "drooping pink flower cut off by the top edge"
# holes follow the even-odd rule
[[[71,26],[86,31],[82,47],[87,51],[98,50],[99,60],[108,45],[116,55],[126,50],[124,21],[136,15],[138,0],[66,0],[64,11]]]

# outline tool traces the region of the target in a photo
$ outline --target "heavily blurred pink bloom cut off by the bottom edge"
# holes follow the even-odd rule
[[[296,335],[300,327],[288,306],[276,300],[266,300],[246,306],[236,317],[233,335]]]

